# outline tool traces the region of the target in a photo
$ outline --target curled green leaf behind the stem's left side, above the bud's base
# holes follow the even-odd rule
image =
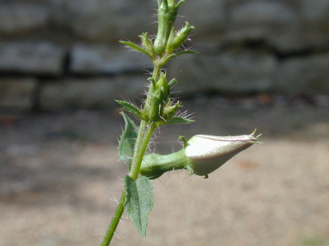
[[[119,156],[121,160],[127,163],[130,169],[134,155],[134,147],[137,138],[138,127],[135,125],[134,121],[125,113],[122,111],[120,113],[123,116],[125,127],[119,142]]]

